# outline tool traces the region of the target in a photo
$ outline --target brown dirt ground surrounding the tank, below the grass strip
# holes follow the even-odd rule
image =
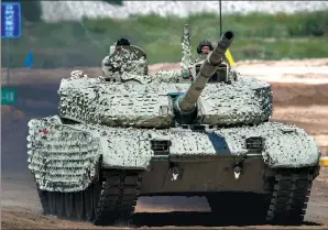
[[[300,67],[310,67],[304,74]],[[151,72],[175,69],[178,64],[157,64]],[[293,123],[315,135],[322,154],[328,155],[328,59],[240,62],[237,69],[270,81],[274,96],[272,120]],[[272,76],[274,68],[275,76]],[[88,75],[101,75],[98,68],[83,69]],[[253,69],[253,72],[252,72]],[[285,69],[285,70],[284,70]],[[33,177],[28,171],[26,135],[29,119],[56,113],[56,90],[59,79],[72,69],[10,69],[10,84],[6,84],[2,69],[2,87],[19,90],[14,107],[1,107],[1,223],[3,229],[92,229],[86,222],[70,222],[41,215]],[[267,74],[270,73],[270,74]],[[287,75],[286,75],[287,73]],[[277,77],[278,76],[278,77]],[[284,80],[288,78],[288,80]],[[283,79],[278,81],[278,79]],[[298,79],[298,80],[297,80]],[[299,80],[302,79],[302,80]],[[315,80],[314,80],[315,79]],[[4,84],[4,86],[3,86]],[[306,221],[293,229],[328,228],[328,168],[321,168],[315,180]],[[252,223],[225,222],[209,212],[204,197],[142,197],[138,200],[132,223],[119,227],[145,229],[289,229],[291,227],[252,226]]]

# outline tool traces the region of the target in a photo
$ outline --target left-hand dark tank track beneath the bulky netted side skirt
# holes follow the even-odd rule
[[[40,190],[44,215],[89,221],[96,226],[127,221],[134,212],[141,172],[105,171],[87,189],[78,193]]]

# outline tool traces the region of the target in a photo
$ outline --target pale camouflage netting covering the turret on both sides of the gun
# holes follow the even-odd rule
[[[123,74],[121,80],[128,79],[140,84],[107,83],[73,73],[73,77],[62,80],[58,91],[61,117],[111,127],[170,128],[174,114],[167,94],[184,92],[189,83],[178,84],[176,72],[160,72],[152,76]],[[199,105],[203,123],[260,123],[272,114],[271,86],[240,76],[231,85],[208,84]]]

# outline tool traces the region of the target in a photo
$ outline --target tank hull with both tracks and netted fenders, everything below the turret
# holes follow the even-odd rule
[[[220,216],[300,223],[319,173],[316,142],[282,123],[149,130],[50,117],[29,125],[29,168],[44,213],[95,224],[130,217],[140,196],[205,196]],[[264,142],[250,149],[245,141],[256,136]],[[251,204],[254,213],[244,210]]]

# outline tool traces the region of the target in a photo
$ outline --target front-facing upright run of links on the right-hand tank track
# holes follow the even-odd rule
[[[299,224],[304,220],[313,180],[319,167],[277,169],[266,221]]]

